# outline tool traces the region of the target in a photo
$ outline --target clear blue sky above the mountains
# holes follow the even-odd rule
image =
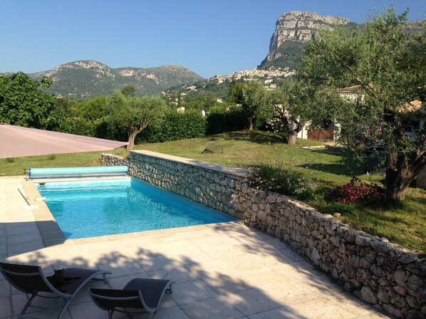
[[[379,0],[0,0],[0,73],[95,60],[111,68],[181,64],[209,78],[252,69],[269,50],[276,20],[316,11],[361,23]],[[425,18],[425,0],[394,1]]]

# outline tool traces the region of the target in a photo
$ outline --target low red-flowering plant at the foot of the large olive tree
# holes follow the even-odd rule
[[[357,177],[352,177],[348,184],[328,189],[326,199],[340,204],[380,204],[385,200],[385,190],[378,184],[361,182]]]

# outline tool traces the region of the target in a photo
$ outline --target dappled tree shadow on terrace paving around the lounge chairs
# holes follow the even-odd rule
[[[247,300],[244,300],[244,298],[240,298],[239,300],[230,300],[230,302],[226,302],[226,296],[224,293],[226,293],[229,289],[233,291],[234,293],[238,293],[241,291],[249,291],[252,296],[256,296],[256,300],[261,305],[267,305],[268,309],[279,309],[279,314],[282,315],[282,318],[308,318],[304,317],[301,313],[296,313],[291,309],[291,307],[286,307],[285,305],[281,305],[280,303],[277,303],[275,300],[272,300],[269,296],[266,296],[263,291],[261,291],[259,288],[248,286],[244,281],[235,281],[233,278],[230,278],[227,275],[219,273],[214,278],[209,278],[204,271],[200,270],[197,266],[197,262],[192,261],[190,258],[187,258],[185,260],[185,270],[179,270],[182,268],[182,265],[180,263],[177,263],[176,261],[167,258],[167,256],[162,256],[157,253],[151,253],[150,251],[140,249],[140,252],[137,253],[137,257],[143,259],[144,262],[140,262],[141,270],[140,273],[135,273],[135,266],[134,261],[129,260],[127,256],[120,253],[119,251],[112,251],[111,253],[108,253],[108,255],[103,256],[98,260],[98,268],[105,268],[105,265],[111,264],[111,263],[118,263],[120,266],[112,266],[112,267],[106,267],[110,271],[112,271],[112,275],[110,276],[110,288],[123,288],[124,284],[132,278],[151,278],[149,276],[149,271],[144,271],[143,269],[145,267],[147,268],[155,268],[155,263],[151,262],[150,259],[158,259],[158,258],[164,258],[165,261],[167,261],[167,267],[161,268],[161,269],[155,269],[155,271],[163,270],[163,271],[170,271],[174,267],[178,270],[175,271],[175,276],[186,276],[187,271],[194,274],[194,276],[201,277],[201,280],[195,279],[193,281],[187,281],[182,283],[177,283],[173,286],[173,294],[171,295],[172,300],[174,300],[174,303],[176,305],[172,305],[170,308],[162,308],[162,310],[159,311],[157,314],[157,318],[241,318],[244,317],[244,310],[251,309],[253,306],[252,303],[250,304]],[[81,267],[81,268],[93,268],[92,261],[87,261],[84,258],[74,258],[73,261],[68,262],[61,259],[58,259],[53,263],[55,265],[55,268],[61,268],[63,266],[75,266],[75,267]],[[42,265],[43,270],[45,273],[51,273],[52,268],[50,266],[50,263],[48,261],[48,257],[41,253],[41,252],[34,252],[33,258],[28,259],[26,264],[33,264],[33,265]],[[130,275],[123,275],[115,277],[115,273],[130,273]],[[173,276],[166,276],[167,279],[174,280]],[[114,284],[115,282],[121,283],[120,285]],[[208,286],[206,285],[208,283]],[[105,287],[105,285],[96,283],[97,287]],[[93,285],[92,285],[93,286]],[[180,296],[180,293],[182,293],[182,289],[180,286],[185,286],[188,289],[192,289],[192,291],[185,291],[185,296]],[[185,288],[183,287],[183,288]],[[12,293],[17,293],[17,291],[12,288]],[[80,292],[81,294],[87,294],[86,291]],[[218,294],[222,294],[223,301],[217,300]],[[16,298],[17,295],[14,295],[14,298]],[[200,298],[200,300],[197,300]],[[95,305],[89,302],[79,303],[81,301],[81,296],[78,296],[80,300],[74,300],[73,304],[70,307],[70,310],[68,310],[68,314],[71,315],[71,318],[83,318],[77,315],[77,313],[83,313],[84,312],[90,313],[93,312],[95,315],[90,315],[90,318],[106,318],[106,312],[100,312],[100,310],[96,309]],[[214,299],[214,300],[213,300]],[[21,305],[24,305],[24,298],[19,298],[21,300]],[[88,298],[83,298],[83,300],[88,301]],[[53,300],[51,300],[53,301]],[[222,303],[222,306],[217,305],[217,302]],[[34,303],[41,302],[43,305],[46,305],[45,300],[34,300]],[[166,303],[166,305],[170,305],[170,300],[163,300],[163,303]],[[17,315],[21,308],[18,306],[16,300],[12,300],[12,304],[16,304],[16,309],[14,308],[13,315]],[[50,303],[52,304],[52,303]],[[80,311],[76,310],[76,308],[80,308]],[[219,311],[219,313],[217,313]],[[248,311],[256,313],[256,310]],[[222,314],[222,316],[225,314],[224,317],[219,317],[218,315]],[[53,311],[48,312],[39,312],[36,314],[35,318],[50,318],[48,315],[51,315],[51,318],[54,317]],[[37,317],[37,315],[40,315],[40,317]],[[1,318],[1,317],[0,317]],[[89,318],[89,317],[85,317]],[[121,317],[119,317],[121,318]],[[142,317],[141,317],[142,318]]]

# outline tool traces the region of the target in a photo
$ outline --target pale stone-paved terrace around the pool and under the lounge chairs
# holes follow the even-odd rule
[[[24,209],[28,204],[18,191],[25,194],[23,180],[0,179],[2,261],[41,265],[47,274],[64,266],[108,270],[113,288],[167,273],[177,283],[163,298],[158,319],[388,318],[343,292],[279,239],[237,222],[61,241],[43,205]],[[16,318],[25,301],[0,278],[0,318]],[[57,315],[33,310],[28,318]],[[107,317],[85,290],[66,315]],[[115,313],[114,318],[127,317]]]

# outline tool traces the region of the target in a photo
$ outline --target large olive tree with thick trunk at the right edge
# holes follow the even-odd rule
[[[312,85],[336,91],[356,85],[358,99],[331,103],[326,113],[341,124],[340,142],[351,157],[365,157],[360,135],[383,146],[374,154],[385,164],[385,187],[394,202],[405,199],[408,185],[426,167],[424,107],[410,104],[425,98],[425,36],[405,32],[406,19],[407,11],[397,16],[391,7],[361,28],[319,32],[300,73]],[[416,127],[415,137],[405,133],[408,124]]]

